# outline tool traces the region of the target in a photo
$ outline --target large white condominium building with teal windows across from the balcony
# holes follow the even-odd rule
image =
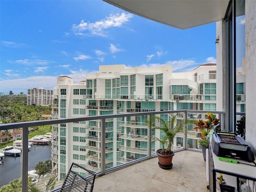
[[[241,69],[242,70],[242,69]],[[53,118],[75,118],[133,112],[164,110],[221,111],[216,86],[216,64],[202,64],[192,72],[174,73],[172,66],[155,68],[132,67],[123,64],[99,66],[99,72],[87,74],[86,80],[74,83],[68,76],[59,76],[54,89]],[[241,102],[241,101],[238,101]],[[168,115],[161,115],[168,119]],[[182,114],[178,117],[183,118]],[[190,113],[190,117],[204,118]],[[105,123],[105,167],[111,168],[147,155],[147,116],[108,118]],[[60,180],[72,162],[98,172],[102,156],[100,120],[52,125],[52,161],[58,167]],[[188,127],[188,147],[199,149],[198,132]],[[152,131],[153,136],[161,132]],[[158,146],[156,146],[158,145]],[[173,147],[183,145],[183,135],[177,135]],[[152,141],[152,154],[159,148]],[[66,154],[72,154],[66,156]]]

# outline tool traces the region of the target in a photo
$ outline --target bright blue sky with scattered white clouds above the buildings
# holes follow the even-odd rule
[[[130,14],[101,0],[0,1],[0,92],[53,89],[99,65],[172,65],[173,72],[216,63],[216,24],[187,30]]]

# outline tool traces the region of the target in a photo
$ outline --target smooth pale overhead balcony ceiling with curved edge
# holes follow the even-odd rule
[[[224,18],[228,0],[104,0],[144,18],[186,29]]]

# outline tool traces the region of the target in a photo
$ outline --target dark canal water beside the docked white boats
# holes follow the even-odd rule
[[[10,181],[21,177],[21,157],[4,157],[4,163],[0,165],[0,187]],[[28,152],[28,167],[34,169],[40,161],[51,159],[50,145],[32,145]]]

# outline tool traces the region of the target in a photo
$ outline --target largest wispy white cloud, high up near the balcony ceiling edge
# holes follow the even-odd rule
[[[106,36],[105,30],[111,27],[121,27],[123,24],[129,21],[132,18],[132,14],[127,13],[117,13],[110,14],[105,19],[100,21],[96,21],[94,23],[85,22],[82,20],[80,24],[73,24],[72,30],[76,35],[98,35],[98,36]]]

